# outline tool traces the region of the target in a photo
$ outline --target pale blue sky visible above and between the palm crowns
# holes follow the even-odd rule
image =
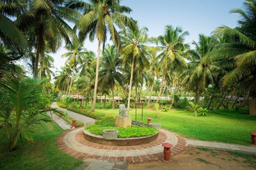
[[[221,25],[236,27],[240,16],[229,11],[243,8],[242,0],[123,0],[121,4],[132,9],[129,16],[138,20],[140,26],[148,27],[149,36],[163,34],[164,25],[180,26],[189,31],[186,43],[198,41],[198,34],[209,36]],[[97,52],[97,40],[85,41],[84,46]],[[57,69],[65,64],[65,59],[61,59],[65,52],[65,48],[60,48],[51,54]]]

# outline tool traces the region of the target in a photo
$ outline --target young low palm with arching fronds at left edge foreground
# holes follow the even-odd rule
[[[30,132],[35,124],[51,121],[40,106],[42,84],[44,80],[26,78],[4,78],[0,88],[0,120],[3,120],[5,138],[8,138],[8,150],[17,146],[19,139],[33,142]]]

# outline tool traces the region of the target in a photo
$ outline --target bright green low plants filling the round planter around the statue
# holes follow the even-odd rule
[[[157,129],[148,126],[132,126],[132,127],[115,127],[115,119],[106,117],[102,120],[97,120],[94,125],[85,127],[86,131],[92,134],[102,135],[104,129],[118,130],[118,138],[136,138],[141,136],[150,136],[157,133]]]

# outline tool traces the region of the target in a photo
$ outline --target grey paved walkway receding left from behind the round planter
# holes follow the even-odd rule
[[[64,108],[60,108],[60,107],[56,104],[56,102],[52,103],[51,107],[52,107],[52,108],[56,108],[56,109],[58,109],[58,110],[60,110],[60,111],[64,111],[65,113],[68,113],[68,116],[70,116],[70,117],[72,117],[72,118],[74,118],[74,119],[76,119],[76,120],[79,120],[79,121],[83,122],[84,125],[86,125],[86,122],[92,122],[92,121],[94,122],[94,121],[95,121],[95,119],[93,119],[93,118],[86,117],[86,116],[84,116],[84,115],[80,115],[80,114],[78,114],[78,113],[75,113],[74,111],[69,111],[69,110],[66,110],[66,109],[64,109]]]

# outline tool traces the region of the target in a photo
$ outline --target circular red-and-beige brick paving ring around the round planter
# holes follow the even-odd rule
[[[172,143],[172,155],[181,152],[186,147],[186,140],[173,132],[161,129],[159,138],[145,145],[109,146],[86,141],[83,138],[83,127],[67,131],[57,138],[57,143],[63,152],[77,159],[104,159],[127,162],[147,162],[163,158],[162,143]]]

